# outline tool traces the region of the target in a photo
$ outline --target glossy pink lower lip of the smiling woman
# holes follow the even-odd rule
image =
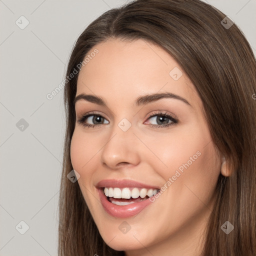
[[[107,200],[102,189],[98,188],[100,201],[103,205],[105,211],[117,218],[127,218],[133,215],[138,214],[142,209],[144,209],[147,205],[151,203],[149,198],[141,201],[141,202],[133,202],[128,205],[116,205]]]

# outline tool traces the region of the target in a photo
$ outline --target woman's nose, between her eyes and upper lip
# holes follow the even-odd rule
[[[134,135],[132,126],[123,131],[117,124],[114,125],[101,150],[102,164],[113,170],[137,165],[140,161],[138,143],[139,139]]]

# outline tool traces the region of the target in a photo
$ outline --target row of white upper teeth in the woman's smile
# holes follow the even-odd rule
[[[140,189],[140,190],[139,190]],[[144,198],[146,195],[151,197],[152,195],[157,193],[156,188],[129,188],[129,187],[124,187],[124,188],[119,188],[119,187],[105,187],[104,188],[104,194],[109,197],[114,197],[114,198],[138,198],[140,196],[141,198]]]

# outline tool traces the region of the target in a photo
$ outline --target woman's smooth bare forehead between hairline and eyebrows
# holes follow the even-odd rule
[[[122,98],[127,102],[138,95],[167,91],[188,101],[197,97],[198,101],[193,84],[176,60],[160,46],[143,39],[109,39],[95,45],[85,58],[76,94],[94,93],[106,101]],[[175,73],[181,76],[173,79]]]

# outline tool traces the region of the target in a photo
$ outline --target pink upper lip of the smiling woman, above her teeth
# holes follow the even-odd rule
[[[148,184],[143,184],[141,182],[131,180],[131,179],[103,179],[100,180],[97,184],[96,187],[141,187],[141,188],[157,188],[159,189],[158,186],[155,185],[148,185]]]

